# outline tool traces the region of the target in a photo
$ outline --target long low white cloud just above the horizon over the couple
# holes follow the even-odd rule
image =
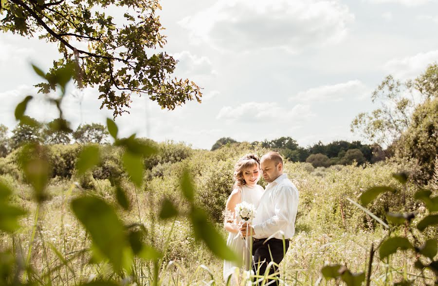
[[[309,105],[297,104],[291,109],[281,107],[276,102],[247,102],[237,107],[224,106],[217,119],[243,122],[263,122],[269,120],[305,120],[314,116]]]

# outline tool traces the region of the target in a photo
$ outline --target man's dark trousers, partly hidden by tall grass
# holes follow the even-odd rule
[[[266,239],[254,239],[253,242],[253,255],[254,255],[254,263],[253,263],[253,271],[254,273],[257,273],[259,275],[264,275],[266,271],[266,267],[271,261],[274,261],[276,264],[279,264],[284,257],[284,254],[289,248],[289,239],[286,239],[284,241],[284,247],[283,247],[283,240],[282,239],[276,239],[271,238],[268,240],[265,244],[263,242]],[[272,259],[271,259],[272,257]],[[278,272],[278,267],[272,265],[269,269],[269,274],[274,274],[275,272]],[[280,274],[277,274],[277,277],[280,277]],[[273,279],[268,280],[268,282],[272,281]],[[276,283],[278,285],[278,281]],[[276,285],[275,283],[271,285]]]

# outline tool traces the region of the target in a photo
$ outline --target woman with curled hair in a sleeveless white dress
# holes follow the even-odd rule
[[[234,250],[238,257],[243,258],[243,265],[236,265],[230,261],[223,263],[223,278],[225,282],[229,276],[235,273],[236,267],[250,270],[250,245],[245,240],[237,237],[239,227],[234,223],[234,208],[241,202],[253,204],[257,208],[263,194],[263,187],[257,185],[260,178],[260,159],[255,154],[246,154],[241,157],[234,166],[234,190],[228,197],[225,209],[224,228],[229,232],[227,246]],[[228,215],[227,215],[228,214]],[[232,279],[235,281],[235,278]]]

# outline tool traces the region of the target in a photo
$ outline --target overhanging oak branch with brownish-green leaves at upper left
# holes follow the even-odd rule
[[[106,14],[112,6],[124,14]],[[177,60],[153,53],[166,43],[159,9],[158,0],[2,0],[0,30],[57,44],[62,58],[45,75],[49,82],[37,84],[40,92],[55,90],[57,71],[72,66],[78,86],[98,87],[101,108],[114,116],[127,111],[132,93],[148,95],[170,110],[186,101],[201,102],[193,81],[170,77]]]

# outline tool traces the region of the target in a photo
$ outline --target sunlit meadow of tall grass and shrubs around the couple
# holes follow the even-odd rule
[[[99,146],[103,154],[100,163],[78,175],[74,160],[81,146],[50,146],[47,156],[52,175],[40,201],[20,170],[19,152],[1,158],[0,181],[13,190],[9,201],[26,211],[18,229],[0,232],[2,281],[15,285],[224,285],[223,260],[196,235],[181,177],[189,170],[195,189],[193,204],[205,210],[209,222],[225,238],[222,210],[232,191],[233,166],[245,153],[261,155],[267,150],[246,143],[228,144],[216,151],[193,150],[174,142],[156,143],[156,147],[159,153],[144,159],[146,171],[141,184],[136,185],[122,167],[119,147]],[[371,246],[377,249],[389,234],[406,237],[413,244],[436,241],[438,236],[433,225],[419,231],[405,222],[401,226],[390,224],[387,229],[350,202],[359,202],[361,194],[371,187],[391,186],[400,191],[385,192],[366,208],[387,224],[388,211],[413,213],[410,224],[417,224],[429,210],[415,198],[419,186],[409,180],[401,184],[392,176],[402,171],[412,173],[415,167],[395,160],[329,168],[287,161],[285,172],[297,186],[300,202],[295,236],[280,264],[281,284],[365,284],[325,278],[322,268],[337,264],[347,267],[353,277],[369,273],[371,285],[434,285],[437,274],[417,262],[427,265],[433,259],[420,257],[415,249],[399,250],[383,260],[376,252],[371,271],[367,271]],[[263,180],[259,184],[266,185]],[[121,207],[119,187],[126,193],[127,208]],[[437,181],[429,187],[436,196]],[[92,235],[72,211],[71,202],[82,196],[107,202],[125,225],[139,230],[141,240],[162,255],[156,259],[150,253],[137,255],[129,270],[117,270],[99,255]],[[177,206],[179,214],[163,218],[160,206],[164,202]],[[434,255],[436,260],[436,251]]]

